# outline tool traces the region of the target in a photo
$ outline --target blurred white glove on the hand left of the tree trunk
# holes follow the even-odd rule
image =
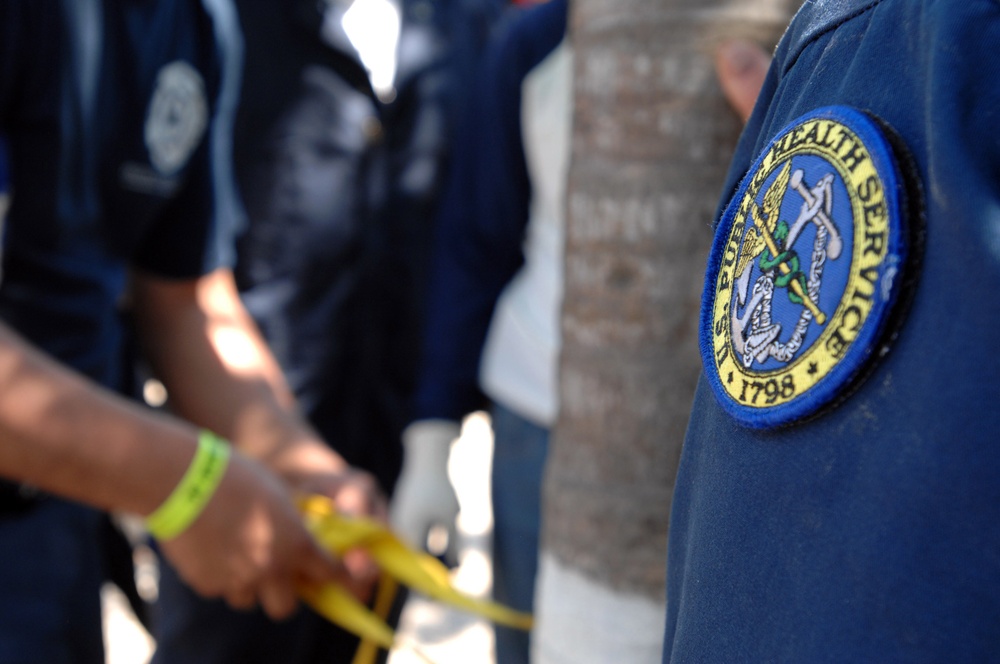
[[[403,471],[389,520],[410,546],[425,549],[433,526],[455,531],[458,497],[448,478],[448,455],[460,427],[452,420],[420,420],[403,431]]]

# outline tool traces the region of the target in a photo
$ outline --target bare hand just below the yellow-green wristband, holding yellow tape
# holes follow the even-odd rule
[[[160,548],[197,593],[236,609],[259,603],[275,620],[295,610],[299,586],[349,583],[343,564],[306,530],[281,481],[235,451],[204,511]]]

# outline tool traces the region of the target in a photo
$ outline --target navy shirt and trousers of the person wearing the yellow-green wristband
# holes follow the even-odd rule
[[[0,318],[107,387],[123,387],[128,270],[194,278],[231,259],[213,216],[210,128],[172,134],[194,141],[168,167],[147,151],[177,147],[146,135],[175,128],[147,115],[176,63],[200,79],[187,99],[201,97],[210,118],[219,62],[199,0],[0,1],[0,135],[14,192]],[[100,517],[19,495],[0,487],[0,660],[101,664]]]

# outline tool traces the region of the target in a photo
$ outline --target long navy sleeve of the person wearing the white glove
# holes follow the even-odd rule
[[[484,54],[437,228],[416,419],[480,408],[479,360],[497,298],[524,262],[531,185],[521,84],[562,41],[568,3],[508,15]]]

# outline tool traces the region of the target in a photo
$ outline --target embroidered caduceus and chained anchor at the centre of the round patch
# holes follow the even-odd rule
[[[792,161],[787,160],[761,203],[754,201],[751,206],[752,224],[748,225],[736,261],[736,298],[732,304],[733,346],[747,368],[769,357],[790,361],[802,346],[810,323],[823,325],[827,320],[819,306],[823,268],[827,260],[836,260],[843,251],[840,231],[831,219],[834,175],[827,173],[812,187],[804,177],[804,171],[793,172]],[[789,192],[802,199],[798,217],[791,224],[781,218]],[[810,223],[815,225],[816,234],[809,263],[804,266],[796,241]],[[758,276],[751,289],[753,274]],[[785,341],[781,340],[781,323],[772,317],[779,291],[791,305],[801,307]]]

